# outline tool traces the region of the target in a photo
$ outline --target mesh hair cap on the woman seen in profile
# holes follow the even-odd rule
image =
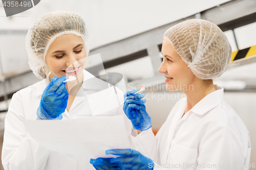
[[[231,46],[214,23],[190,19],[169,28],[163,37],[199,79],[215,79],[227,69]]]

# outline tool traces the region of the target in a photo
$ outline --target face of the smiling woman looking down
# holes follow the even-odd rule
[[[74,34],[57,37],[46,54],[46,63],[51,70],[50,79],[54,76],[76,75],[81,82],[82,70],[86,66],[83,61],[86,57],[87,52],[81,37]]]

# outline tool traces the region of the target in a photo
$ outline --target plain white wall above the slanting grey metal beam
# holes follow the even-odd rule
[[[74,11],[82,15],[90,28],[91,48],[165,25],[230,0],[44,0],[12,19],[0,17],[0,30],[28,29],[41,15],[57,11]],[[0,16],[5,16],[2,1]],[[27,16],[27,17],[21,17]]]

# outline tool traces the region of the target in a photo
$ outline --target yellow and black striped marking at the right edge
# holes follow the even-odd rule
[[[252,56],[256,56],[256,45],[233,52],[230,62]]]

